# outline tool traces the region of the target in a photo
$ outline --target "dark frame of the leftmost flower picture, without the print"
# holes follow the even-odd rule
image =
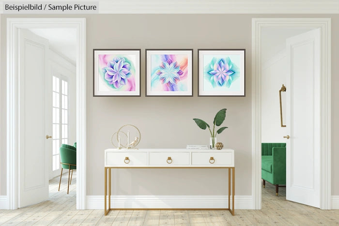
[[[95,94],[95,51],[139,51],[139,95],[98,95]],[[137,77],[138,75],[136,75]],[[141,49],[93,49],[93,97],[141,97]]]

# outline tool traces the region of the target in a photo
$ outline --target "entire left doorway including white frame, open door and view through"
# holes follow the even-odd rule
[[[86,208],[85,28],[84,18],[7,19],[7,61],[11,62],[7,64],[8,209],[34,204],[34,200],[44,200],[43,196],[48,199],[48,188],[55,190],[53,181],[60,175],[60,143],[73,147],[75,142],[77,152],[73,161],[77,172],[73,171],[69,190],[74,193],[77,209]],[[65,46],[66,42],[69,46]],[[23,81],[20,80],[22,75],[29,76]],[[22,89],[23,82],[29,86]],[[31,119],[27,117],[29,113],[41,117]],[[27,137],[31,139],[25,139]],[[38,140],[36,147],[35,139]],[[21,170],[25,169],[25,176],[28,176],[26,168],[30,166],[31,169],[39,166],[42,173],[22,177]],[[61,188],[66,187],[67,191],[67,170],[63,173]],[[49,179],[53,186],[48,185]]]

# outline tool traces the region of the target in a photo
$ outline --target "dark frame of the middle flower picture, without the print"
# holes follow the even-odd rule
[[[148,65],[147,65],[147,52],[148,51],[191,51],[191,67],[187,69],[191,70],[191,83],[188,85],[191,85],[191,93],[190,95],[150,95],[148,93]],[[146,97],[193,97],[193,49],[145,49],[145,96]]]

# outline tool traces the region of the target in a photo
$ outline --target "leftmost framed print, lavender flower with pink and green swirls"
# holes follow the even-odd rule
[[[140,49],[93,49],[93,96],[140,96]]]

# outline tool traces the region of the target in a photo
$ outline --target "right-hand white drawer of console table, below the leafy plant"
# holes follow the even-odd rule
[[[232,152],[192,152],[192,165],[234,166]]]

